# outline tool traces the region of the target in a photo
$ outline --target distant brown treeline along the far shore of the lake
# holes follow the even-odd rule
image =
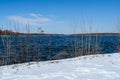
[[[20,32],[14,32],[14,31],[11,31],[11,30],[1,30],[0,29],[0,35],[10,35],[10,36],[12,36],[12,35],[16,35],[16,36],[18,36],[18,35],[40,35],[40,36],[49,36],[49,35],[65,35],[65,34],[48,34],[48,33],[20,33]],[[83,35],[83,36],[120,36],[120,33],[78,33],[78,34],[68,34],[68,35],[71,35],[71,36],[81,36],[81,35]]]

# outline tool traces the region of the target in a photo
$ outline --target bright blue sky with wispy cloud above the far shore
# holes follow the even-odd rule
[[[26,32],[116,32],[120,0],[0,0],[0,28]]]

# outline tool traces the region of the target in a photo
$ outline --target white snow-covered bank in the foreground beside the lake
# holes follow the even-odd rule
[[[0,80],[120,80],[120,53],[2,66]]]

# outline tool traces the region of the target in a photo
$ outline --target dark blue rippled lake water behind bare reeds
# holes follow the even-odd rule
[[[0,36],[0,62],[46,61],[118,52],[119,36]]]

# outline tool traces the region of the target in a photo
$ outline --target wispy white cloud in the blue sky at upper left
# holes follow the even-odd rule
[[[50,24],[52,23],[52,19],[44,17],[41,14],[34,14],[30,13],[29,17],[23,17],[23,16],[8,16],[9,20],[17,21],[22,24],[28,24],[31,25],[43,25],[43,24]]]

